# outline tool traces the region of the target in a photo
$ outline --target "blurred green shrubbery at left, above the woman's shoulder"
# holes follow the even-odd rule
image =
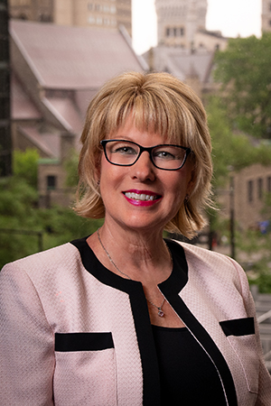
[[[19,233],[42,233],[43,249],[48,249],[89,235],[102,224],[102,220],[77,216],[71,208],[38,208],[38,193],[33,185],[35,162],[36,154],[16,152],[14,176],[0,180],[0,269],[5,263],[39,251],[38,235]]]

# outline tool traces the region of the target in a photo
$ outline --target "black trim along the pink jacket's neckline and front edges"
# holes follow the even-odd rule
[[[125,291],[129,295],[142,362],[143,404],[144,406],[157,406],[160,404],[159,369],[143,286],[139,281],[124,279],[114,272],[107,270],[107,268],[99,263],[98,258],[90,249],[86,240],[87,238],[82,238],[71,242],[72,245],[78,248],[86,270],[97,278],[98,281],[120,291]],[[184,250],[181,245],[172,240],[166,240],[166,244],[173,256],[173,272],[158,287],[216,366],[227,396],[225,405],[238,406],[237,394],[228,364],[208,332],[192,315],[190,309],[187,308],[179,296],[180,291],[182,291],[182,288],[188,281],[188,265]]]

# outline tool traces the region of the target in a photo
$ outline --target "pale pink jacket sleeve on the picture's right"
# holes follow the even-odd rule
[[[232,261],[232,260],[231,260]],[[234,262],[235,263],[235,262]],[[253,317],[255,320],[255,334],[257,338],[257,355],[259,358],[259,376],[258,376],[258,395],[257,402],[255,406],[271,406],[271,377],[266,369],[266,364],[264,360],[259,328],[257,323],[257,315],[255,309],[255,303],[252,298],[252,294],[249,291],[248,278],[246,273],[240,267],[238,263],[235,263],[235,266],[238,270],[240,284],[242,289],[242,297],[244,300],[244,306],[247,310],[248,317]]]

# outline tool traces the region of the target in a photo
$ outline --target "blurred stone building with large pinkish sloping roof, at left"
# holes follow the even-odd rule
[[[144,71],[122,27],[61,26],[10,22],[12,135],[14,149],[40,152],[41,204],[67,204],[64,164],[79,150],[89,101],[108,79],[126,70]]]

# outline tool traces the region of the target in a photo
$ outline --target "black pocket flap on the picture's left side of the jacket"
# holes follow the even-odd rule
[[[95,333],[55,333],[55,351],[102,351],[114,348],[112,334]]]

